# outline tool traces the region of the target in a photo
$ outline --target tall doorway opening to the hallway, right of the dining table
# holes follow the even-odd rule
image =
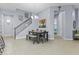
[[[62,39],[63,38],[63,21],[64,21],[64,11],[55,11],[54,12],[54,38]]]

